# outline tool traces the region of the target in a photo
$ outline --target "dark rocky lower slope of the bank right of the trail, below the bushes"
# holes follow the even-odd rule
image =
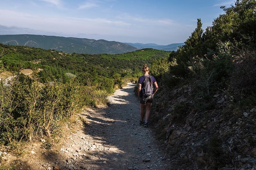
[[[256,107],[234,112],[233,97],[222,90],[212,96],[212,106],[197,105],[195,90],[189,85],[162,86],[153,105],[151,120],[173,167],[255,169]]]

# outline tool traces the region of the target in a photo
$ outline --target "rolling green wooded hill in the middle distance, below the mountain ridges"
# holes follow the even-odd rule
[[[125,54],[76,54],[55,50],[43,50],[34,47],[4,45],[1,60],[7,70],[18,71],[23,68],[41,68],[40,81],[64,81],[65,73],[73,73],[81,81],[85,77],[97,79],[98,76],[112,78],[115,73],[124,76],[141,74],[143,64],[151,66],[156,58],[167,58],[169,52],[163,50],[143,49]]]

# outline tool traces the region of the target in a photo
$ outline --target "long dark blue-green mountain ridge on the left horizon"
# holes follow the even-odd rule
[[[48,35],[0,35],[0,43],[30,46],[42,49],[55,49],[79,54],[120,54],[138,50],[129,44],[116,41],[94,40],[87,38],[60,37]]]

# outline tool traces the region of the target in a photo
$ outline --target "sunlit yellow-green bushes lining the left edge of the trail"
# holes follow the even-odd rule
[[[85,105],[107,103],[107,92],[68,83],[40,86],[35,79],[19,75],[10,85],[0,84],[0,142],[31,140],[40,132],[52,136],[59,120],[71,117]]]

